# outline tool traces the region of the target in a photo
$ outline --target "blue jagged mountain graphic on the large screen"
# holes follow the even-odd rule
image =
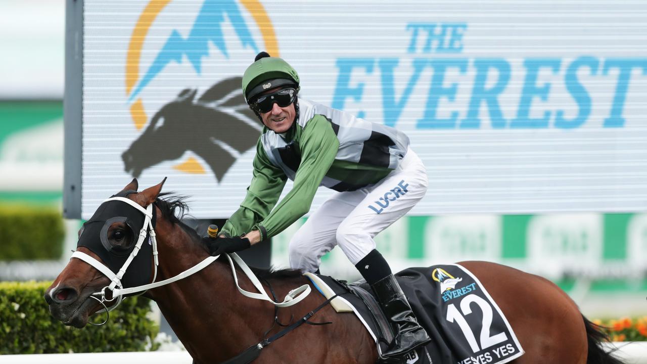
[[[173,29],[171,36],[166,40],[164,47],[155,57],[155,61],[148,67],[144,77],[138,82],[134,91],[128,98],[132,102],[135,97],[148,85],[166,65],[175,61],[182,63],[182,56],[186,55],[197,74],[201,73],[202,58],[209,55],[209,41],[212,41],[226,58],[229,58],[225,38],[223,37],[222,23],[225,14],[229,18],[243,47],[252,47],[258,52],[258,47],[252,39],[245,19],[241,16],[240,9],[234,0],[205,0],[200,13],[193,23],[189,36],[184,39],[180,33]]]

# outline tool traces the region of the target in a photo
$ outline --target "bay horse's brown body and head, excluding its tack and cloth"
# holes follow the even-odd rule
[[[163,183],[135,192],[138,185],[137,179],[133,179],[122,190],[122,194],[131,192],[124,196],[136,205],[142,208],[152,205],[150,210],[155,210],[155,238],[159,246],[157,281],[174,277],[209,257],[199,234],[177,217],[178,212],[184,212],[186,204],[179,198],[161,198],[166,195],[160,195]],[[107,242],[118,247],[132,245],[137,239],[137,230],[128,233],[123,219],[117,218],[110,223],[113,220],[107,220]],[[80,242],[83,235],[80,232]],[[102,260],[85,246],[79,246],[77,251]],[[147,267],[151,267],[153,258],[145,258],[150,263]],[[621,363],[600,348],[600,342],[607,338],[599,328],[549,280],[492,262],[459,264],[472,271],[499,304],[525,350],[523,356],[511,363]],[[274,324],[275,315],[279,323],[289,323],[318,306],[323,308],[313,319],[332,324],[298,326],[265,347],[254,363],[376,363],[375,341],[354,315],[335,313],[330,305],[322,305],[325,299],[321,295],[314,293],[294,306],[277,310],[270,302],[241,295],[231,269],[221,256],[189,277],[144,294],[157,302],[195,363],[221,363],[237,356],[264,337],[281,331],[282,328]],[[252,282],[241,274],[239,267],[236,271],[241,288],[253,290]],[[311,284],[300,272],[289,269],[255,269],[255,273],[263,281],[263,288],[272,290],[276,297],[287,295],[296,286]],[[45,299],[56,319],[82,328],[90,315],[103,308],[98,300],[90,299],[91,296],[110,282],[111,279],[95,267],[72,258],[47,289]]]

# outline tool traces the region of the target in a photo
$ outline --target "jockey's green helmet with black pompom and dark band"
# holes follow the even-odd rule
[[[249,104],[259,93],[282,85],[299,89],[299,74],[281,58],[260,52],[243,74],[243,94]]]

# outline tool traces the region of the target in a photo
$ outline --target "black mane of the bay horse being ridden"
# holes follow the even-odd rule
[[[166,198],[160,198],[163,196],[166,196]],[[186,204],[186,202],[184,202],[184,198],[185,196],[177,196],[173,194],[173,192],[162,192],[155,200],[155,204],[157,205],[157,207],[159,207],[160,211],[162,211],[162,216],[164,216],[166,220],[179,225],[182,230],[186,231],[186,233],[195,244],[201,244],[203,245],[205,250],[208,250],[206,244],[202,242],[200,234],[198,234],[195,229],[182,222],[182,218],[184,218],[184,216],[188,216],[187,213],[189,210],[188,205]],[[225,259],[224,255],[218,258],[218,260],[223,259]],[[302,277],[302,273],[298,269],[264,269],[252,266],[250,266],[250,268],[252,269],[256,277],[261,280],[292,279]]]

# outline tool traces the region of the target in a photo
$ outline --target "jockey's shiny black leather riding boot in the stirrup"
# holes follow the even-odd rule
[[[393,343],[382,353],[382,358],[397,358],[432,341],[415,319],[402,288],[392,274],[378,280],[371,288],[386,317],[397,326]]]

